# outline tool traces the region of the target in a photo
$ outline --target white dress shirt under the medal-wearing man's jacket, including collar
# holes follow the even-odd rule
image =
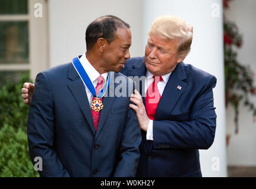
[[[88,61],[88,59],[86,58],[86,53],[83,53],[82,57],[79,58],[80,63],[83,66],[83,69],[85,69],[86,73],[88,74],[90,80],[93,83],[94,88],[97,86],[98,83],[98,77],[102,76],[104,77],[104,83],[103,86],[108,82],[108,72],[103,73],[103,74],[99,74],[99,72],[97,70],[95,70],[95,68],[92,66],[92,64],[90,64],[90,62]],[[89,105],[92,104],[92,93],[90,93],[90,90],[85,86],[85,91],[88,97],[88,101],[89,101]]]

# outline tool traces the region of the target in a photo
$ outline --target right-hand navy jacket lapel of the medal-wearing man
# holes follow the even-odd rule
[[[115,74],[114,72],[110,72],[109,74],[112,74],[112,80],[111,83],[109,83],[108,90],[106,91],[104,97],[103,97],[103,109],[101,110],[101,116],[99,116],[99,125],[96,132],[95,138],[98,137],[99,132],[101,132],[105,120],[109,115],[109,112],[111,111],[112,104],[114,103],[116,96],[112,96],[110,94],[114,94],[115,92]]]

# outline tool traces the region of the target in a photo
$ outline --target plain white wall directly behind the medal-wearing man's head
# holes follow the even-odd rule
[[[115,15],[131,27],[131,57],[142,56],[141,0],[51,0],[49,4],[50,67],[69,63],[86,51],[85,31],[103,15]]]

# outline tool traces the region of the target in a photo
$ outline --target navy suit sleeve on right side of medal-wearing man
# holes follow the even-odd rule
[[[135,177],[140,158],[141,131],[136,113],[128,108],[127,122],[119,148],[119,161],[114,177]]]

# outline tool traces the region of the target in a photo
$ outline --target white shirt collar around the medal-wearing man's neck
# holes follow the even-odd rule
[[[86,58],[86,52],[83,53],[82,57],[79,58],[80,63],[83,66],[83,69],[85,69],[86,73],[88,74],[90,80],[95,83],[99,76],[104,77],[104,84],[106,83],[106,80],[108,78],[108,72],[99,74],[97,70],[92,66],[92,64],[89,62],[89,60]]]

